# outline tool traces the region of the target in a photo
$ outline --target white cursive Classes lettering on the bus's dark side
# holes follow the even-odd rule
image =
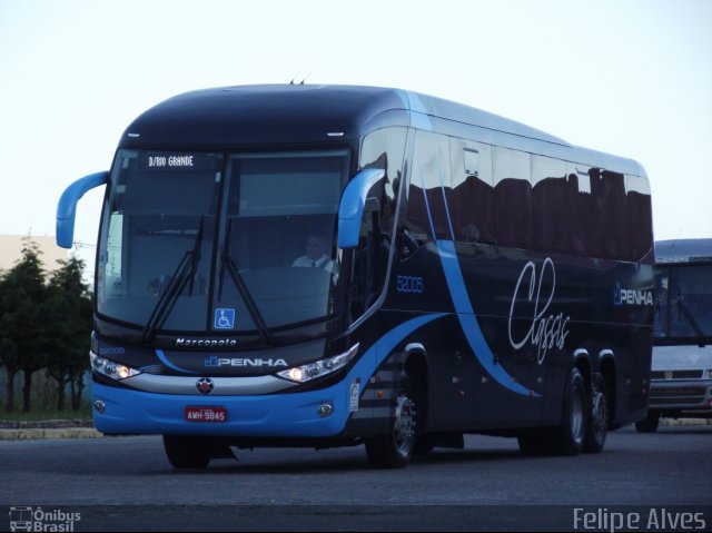
[[[528,275],[528,276],[527,276]],[[528,283],[527,283],[528,282]],[[542,286],[544,284],[551,284],[551,292],[547,295],[542,295]],[[526,287],[528,286],[528,290]],[[547,257],[542,265],[542,272],[538,276],[538,283],[536,280],[536,265],[533,261],[528,261],[524,265],[520,279],[516,283],[514,295],[512,296],[512,305],[510,306],[510,344],[514,349],[522,349],[526,343],[531,343],[536,346],[536,361],[541,365],[546,358],[548,349],[556,346],[558,349],[564,348],[566,336],[568,335],[568,315],[564,316],[563,313],[554,315],[553,313],[546,315],[548,306],[554,299],[554,293],[556,292],[556,269],[554,268],[554,261]],[[520,304],[525,303],[527,309],[532,309],[527,315],[527,312],[517,313],[517,302]],[[544,304],[542,305],[542,302]],[[534,306],[532,307],[532,304]],[[530,327],[526,330],[524,337],[515,339],[513,333],[513,318],[525,317],[530,322]]]

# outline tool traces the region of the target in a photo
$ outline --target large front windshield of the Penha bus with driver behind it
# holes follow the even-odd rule
[[[105,206],[100,315],[157,332],[256,332],[334,313],[346,150],[120,150]],[[146,337],[145,337],[146,338]]]

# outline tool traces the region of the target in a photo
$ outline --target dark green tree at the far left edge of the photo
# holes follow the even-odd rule
[[[8,373],[8,404],[14,408],[12,385],[18,371],[23,374],[22,411],[30,411],[32,374],[44,367],[46,353],[40,349],[46,324],[55,317],[41,313],[47,296],[44,270],[40,261],[40,249],[27,237],[22,257],[6,273],[0,294],[0,338],[2,361]]]

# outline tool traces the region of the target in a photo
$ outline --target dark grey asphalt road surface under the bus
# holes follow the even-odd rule
[[[650,525],[663,507],[712,529],[712,425],[627,427],[576,457],[523,457],[514,440],[469,436],[397,471],[372,470],[363,446],[238,456],[176,471],[160,437],[0,442],[0,530],[19,506],[46,522],[79,512],[73,531],[583,531],[585,512],[610,531],[602,520],[617,512]]]

